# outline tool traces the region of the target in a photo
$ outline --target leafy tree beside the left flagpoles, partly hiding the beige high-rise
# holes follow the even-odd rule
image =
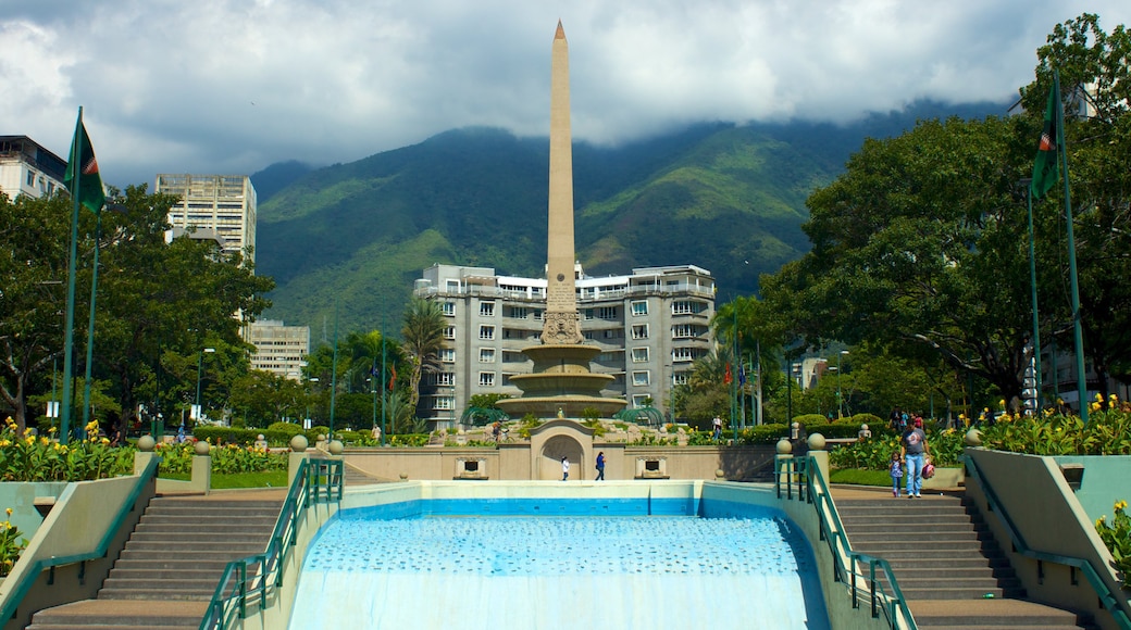
[[[170,352],[189,359],[192,369],[184,370],[182,361],[170,367],[181,368],[181,387],[187,391],[185,382],[191,383],[195,397],[201,352],[217,350],[205,360],[211,374],[223,368],[225,378],[210,383],[207,400],[223,406],[227,385],[248,370],[251,348],[240,330],[269,305],[262,294],[275,286],[270,278],[257,277],[242,254],[225,254],[215,242],[176,238],[166,244],[172,201],[148,194],[145,185],[129,186],[111,196],[111,207],[120,212],[103,211],[95,368],[118,384],[122,426],[143,402],[139,385],[157,371],[170,371],[154,365],[154,357],[165,359]],[[154,383],[157,390],[163,386]]]

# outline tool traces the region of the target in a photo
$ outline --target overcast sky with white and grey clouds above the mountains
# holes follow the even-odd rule
[[[1128,0],[0,0],[0,134],[103,180],[353,161],[467,125],[546,135],[570,44],[576,140],[1011,102],[1057,23]]]

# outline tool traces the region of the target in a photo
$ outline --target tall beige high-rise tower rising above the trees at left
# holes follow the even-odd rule
[[[174,194],[169,209],[171,237],[210,230],[225,253],[240,252],[256,262],[256,187],[247,175],[157,175],[154,192]],[[206,233],[207,234],[207,233]],[[250,250],[249,250],[250,248]]]

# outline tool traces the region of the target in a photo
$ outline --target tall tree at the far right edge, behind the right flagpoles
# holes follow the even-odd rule
[[[1123,25],[1110,34],[1094,14],[1056,25],[1038,49],[1036,81],[1022,89],[1025,108],[1044,112],[1053,71],[1067,103],[1073,226],[1079,265],[1081,327],[1086,356],[1106,394],[1107,376],[1131,382],[1131,33]],[[1087,96],[1083,96],[1083,93]],[[1081,103],[1089,115],[1079,114]],[[1073,107],[1074,106],[1074,107]],[[1061,174],[1063,177],[1063,173]],[[1035,211],[1053,215],[1063,233],[1063,194],[1056,186]],[[1047,207],[1060,213],[1047,212]],[[1039,243],[1039,242],[1038,242]],[[1071,330],[1068,268],[1060,234],[1048,264],[1059,271],[1055,290],[1042,295],[1042,309],[1055,308],[1054,331]],[[1045,300],[1050,296],[1053,299]],[[1067,334],[1060,348],[1071,348]],[[1043,339],[1045,341],[1045,339]]]

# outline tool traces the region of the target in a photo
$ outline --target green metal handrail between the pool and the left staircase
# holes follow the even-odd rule
[[[200,620],[200,630],[228,628],[236,615],[245,619],[249,603],[262,604],[283,586],[283,568],[297,543],[302,511],[318,504],[340,502],[343,472],[340,460],[303,460],[299,464],[267,550],[227,563]],[[249,571],[249,567],[256,567],[256,571]]]

